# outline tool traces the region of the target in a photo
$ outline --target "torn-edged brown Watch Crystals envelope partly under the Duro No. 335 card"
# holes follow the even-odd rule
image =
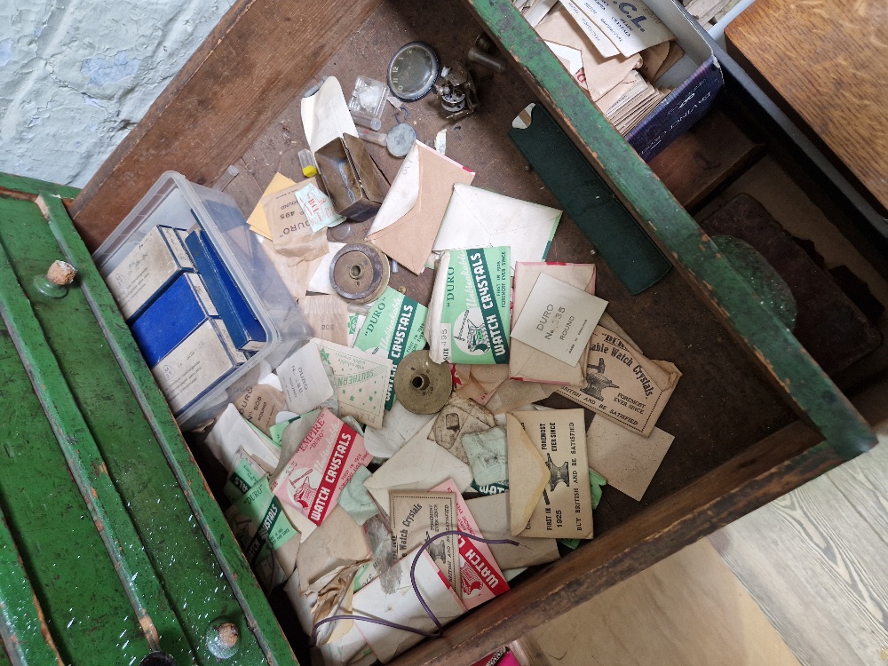
[[[672,363],[651,361],[613,331],[597,326],[589,346],[588,385],[582,390],[564,386],[559,393],[648,436],[680,377]]]

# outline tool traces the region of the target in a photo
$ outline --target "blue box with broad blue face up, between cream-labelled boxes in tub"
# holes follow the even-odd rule
[[[148,367],[153,368],[203,322],[217,316],[200,276],[187,273],[173,281],[130,329]]]

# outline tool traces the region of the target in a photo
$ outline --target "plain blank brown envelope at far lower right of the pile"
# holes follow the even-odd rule
[[[589,464],[607,483],[641,501],[675,437],[654,428],[648,437],[595,416],[586,432]]]

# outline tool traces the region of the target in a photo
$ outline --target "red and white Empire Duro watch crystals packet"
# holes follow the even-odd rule
[[[305,440],[273,480],[274,495],[292,507],[287,515],[302,541],[321,525],[354,472],[373,456],[364,438],[323,408]]]

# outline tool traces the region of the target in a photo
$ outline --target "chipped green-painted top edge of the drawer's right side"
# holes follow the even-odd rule
[[[583,94],[573,77],[509,0],[467,0],[577,147],[654,240],[781,386],[836,456],[850,459],[876,438],[852,404],[770,313],[659,178]],[[576,142],[576,141],[575,141]],[[730,377],[725,377],[730,381]]]

